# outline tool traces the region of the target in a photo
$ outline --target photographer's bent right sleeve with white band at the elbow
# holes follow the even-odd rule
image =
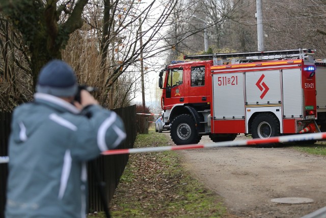
[[[72,156],[93,159],[103,151],[115,149],[126,138],[122,119],[114,111],[91,105],[81,115]]]

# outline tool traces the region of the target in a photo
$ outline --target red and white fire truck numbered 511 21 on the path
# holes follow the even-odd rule
[[[180,145],[198,143],[203,135],[219,142],[240,133],[268,138],[320,132],[314,52],[187,55],[185,60],[201,61],[168,65],[158,83],[172,140]]]

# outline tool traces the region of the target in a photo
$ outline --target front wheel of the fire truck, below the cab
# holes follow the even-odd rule
[[[195,120],[189,114],[181,114],[173,119],[170,135],[178,146],[180,144],[197,144],[201,139],[196,129]]]

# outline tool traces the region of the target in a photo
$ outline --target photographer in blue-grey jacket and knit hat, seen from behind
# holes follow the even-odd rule
[[[34,101],[14,110],[6,217],[86,217],[86,162],[126,137],[121,118],[86,90],[74,101],[73,69],[52,60]]]

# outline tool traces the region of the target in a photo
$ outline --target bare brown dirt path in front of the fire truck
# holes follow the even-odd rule
[[[207,136],[200,141],[205,142],[211,142]],[[186,169],[222,196],[229,212],[239,217],[301,217],[326,206],[326,157],[303,154],[290,146],[179,152]],[[285,197],[310,198],[314,202],[270,201]]]

